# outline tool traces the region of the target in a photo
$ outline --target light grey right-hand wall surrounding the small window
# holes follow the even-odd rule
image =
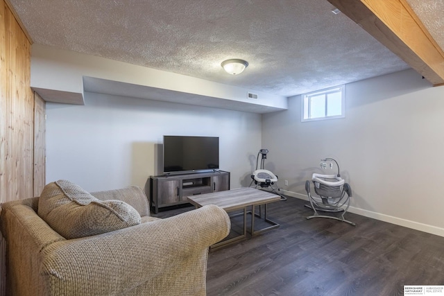
[[[351,211],[444,236],[444,87],[407,70],[350,83],[345,96],[345,119],[301,123],[300,96],[263,115],[280,187],[304,198],[305,180],[333,157],[352,186]]]

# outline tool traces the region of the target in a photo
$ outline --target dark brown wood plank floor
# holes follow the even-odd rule
[[[403,295],[404,285],[444,285],[443,237],[350,213],[355,227],[307,220],[305,203],[269,204],[279,228],[210,251],[207,295],[385,296]]]

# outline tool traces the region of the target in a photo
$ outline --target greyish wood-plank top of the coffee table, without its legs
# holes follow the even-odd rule
[[[191,195],[187,197],[191,204],[196,207],[203,207],[207,204],[216,204],[225,211],[243,209],[251,205],[267,204],[277,202],[280,195],[269,193],[250,187]]]

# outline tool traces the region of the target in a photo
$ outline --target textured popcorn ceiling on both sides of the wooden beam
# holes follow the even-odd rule
[[[409,68],[327,0],[9,1],[36,44],[282,96]],[[444,48],[443,1],[407,1]]]

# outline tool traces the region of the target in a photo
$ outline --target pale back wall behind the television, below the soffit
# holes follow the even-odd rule
[[[164,134],[218,136],[231,188],[248,186],[261,144],[260,114],[85,93],[85,105],[47,103],[46,182],[71,180],[87,191],[144,188],[160,173]]]

